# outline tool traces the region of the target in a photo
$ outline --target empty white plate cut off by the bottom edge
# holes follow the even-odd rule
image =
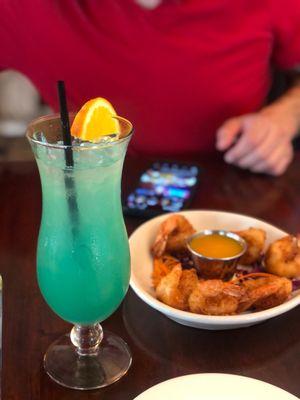
[[[228,374],[185,375],[159,383],[134,400],[293,400],[297,397],[276,386]]]

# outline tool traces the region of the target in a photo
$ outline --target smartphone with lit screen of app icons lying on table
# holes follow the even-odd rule
[[[125,199],[124,213],[153,217],[186,208],[197,189],[199,171],[196,165],[155,162]]]

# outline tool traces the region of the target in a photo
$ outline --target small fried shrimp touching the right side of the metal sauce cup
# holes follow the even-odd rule
[[[240,263],[250,265],[258,261],[264,250],[266,232],[263,229],[248,228],[243,231],[236,231],[235,233],[241,236],[247,243],[247,250],[241,257]]]

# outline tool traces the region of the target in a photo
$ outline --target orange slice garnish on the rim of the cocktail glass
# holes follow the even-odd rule
[[[97,143],[103,136],[120,135],[120,124],[116,111],[109,101],[102,97],[89,100],[76,114],[71,126],[72,136]]]

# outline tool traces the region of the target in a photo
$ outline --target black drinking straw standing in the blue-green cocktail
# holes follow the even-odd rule
[[[69,113],[67,107],[66,89],[64,81],[57,82],[57,90],[59,97],[60,121],[63,133],[63,142],[64,146],[66,146],[64,148],[65,160],[66,160],[66,166],[70,170],[69,174],[64,174],[65,187],[66,191],[70,193],[70,195],[67,196],[67,199],[68,199],[71,222],[73,223],[73,227],[76,227],[78,223],[78,205],[76,199],[75,182],[73,176],[70,175],[71,170],[73,169],[72,167],[74,167],[74,160],[73,160],[73,150],[71,147],[72,138],[70,131],[70,121],[69,121]]]

